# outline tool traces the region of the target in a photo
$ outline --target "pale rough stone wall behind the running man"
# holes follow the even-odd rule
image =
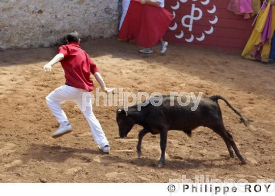
[[[119,0],[0,0],[0,50],[49,47],[78,31],[82,38],[117,34]]]

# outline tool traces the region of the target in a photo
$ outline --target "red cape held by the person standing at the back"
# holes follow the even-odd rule
[[[150,48],[163,38],[172,18],[165,8],[131,0],[118,39],[133,39],[138,45]]]

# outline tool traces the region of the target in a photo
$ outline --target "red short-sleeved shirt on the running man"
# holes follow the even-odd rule
[[[94,84],[90,75],[99,72],[99,69],[89,55],[80,48],[77,42],[60,46],[58,53],[64,55],[64,59],[60,63],[65,72],[66,84],[91,92],[94,89]]]

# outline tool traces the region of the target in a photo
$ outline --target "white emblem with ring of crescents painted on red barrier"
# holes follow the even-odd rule
[[[182,3],[186,3],[188,0],[180,0]],[[210,0],[192,0],[192,1],[200,1],[202,5],[208,5],[210,3]],[[173,10],[177,10],[180,8],[180,2],[177,1],[177,4],[174,6],[171,6]],[[209,20],[209,27],[204,30],[204,32],[201,33],[201,35],[193,35],[192,29],[193,29],[193,22],[201,20],[203,17],[203,11],[201,8],[196,7],[195,4],[192,4],[191,6],[191,12],[190,15],[185,15],[181,19],[181,24],[183,27],[187,28],[188,31],[191,33],[191,37],[185,38],[187,42],[192,42],[193,40],[197,41],[203,41],[205,39],[205,34],[212,34],[214,32],[214,28],[212,25],[215,25],[218,22],[218,17],[214,15],[217,11],[217,8],[215,5],[213,5],[212,9],[207,9],[207,12],[209,14],[213,14],[213,20]],[[173,19],[176,17],[175,11],[173,11]],[[172,27],[169,27],[171,31],[175,31],[178,28],[178,24],[174,22]],[[184,37],[184,32],[181,30],[181,33],[178,35],[175,35],[176,38],[181,39]]]

